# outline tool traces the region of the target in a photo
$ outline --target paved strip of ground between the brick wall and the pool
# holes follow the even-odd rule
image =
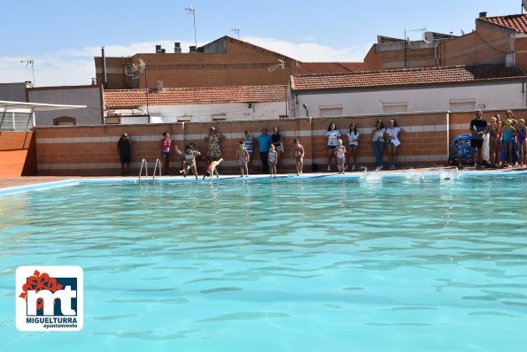
[[[384,170],[384,172],[408,172],[409,170],[413,171],[419,171],[419,172],[427,172],[427,171],[438,171],[438,170],[453,170],[455,167],[448,166],[448,167],[415,167],[415,168],[406,168],[406,169],[399,169],[399,170]],[[491,169],[491,168],[476,168],[474,166],[464,166],[462,167],[462,170],[468,170],[468,171],[493,171],[493,172],[510,172],[510,171],[525,171],[527,170],[526,167],[508,167],[508,168],[501,168],[501,169]],[[305,172],[312,173],[312,172]],[[336,172],[317,172],[318,174],[334,174]],[[346,173],[357,173],[357,172],[346,172]],[[293,173],[281,173],[281,175],[293,175]],[[256,173],[255,175],[260,175]],[[232,176],[232,174],[229,174],[229,176]],[[120,176],[115,176],[115,178],[118,178]],[[130,177],[136,177],[136,176],[128,176]],[[169,176],[174,178],[180,178],[182,176]],[[78,180],[78,179],[107,179],[108,176],[105,177],[94,177],[94,176],[25,176],[25,177],[17,177],[17,178],[0,178],[0,189],[3,188],[9,188],[9,187],[20,187],[20,186],[30,186],[35,185],[38,183],[47,183],[47,182],[54,182],[58,180]]]

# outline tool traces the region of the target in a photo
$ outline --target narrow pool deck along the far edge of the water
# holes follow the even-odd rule
[[[383,170],[380,171],[380,173],[399,173],[399,172],[438,172],[438,171],[445,171],[445,170],[455,170],[456,168],[453,166],[445,166],[445,167],[413,167],[413,168],[400,168],[398,170]],[[461,168],[460,168],[461,170]],[[527,171],[527,167],[520,167],[520,166],[514,166],[514,167],[506,167],[506,168],[480,168],[480,167],[474,167],[474,166],[463,166],[463,171],[492,171],[492,172],[523,172]],[[369,171],[369,170],[368,170]],[[346,174],[360,174],[361,171],[357,172],[346,172]],[[336,175],[337,172],[305,172],[306,175]],[[295,173],[279,173],[279,176],[293,176]],[[233,176],[236,176],[236,174],[226,174],[225,176],[229,176],[232,178]],[[261,177],[261,173],[254,173],[251,176],[258,176]],[[250,176],[250,177],[251,177]],[[163,178],[174,178],[174,179],[182,179],[182,176],[164,176]],[[220,176],[221,177],[221,176]],[[12,188],[12,187],[24,187],[24,186],[32,186],[37,184],[45,184],[50,182],[57,182],[61,180],[97,180],[97,179],[109,179],[112,178],[114,180],[119,179],[133,179],[137,178],[137,176],[23,176],[23,177],[13,177],[13,178],[0,178],[0,189],[5,188]],[[207,179],[208,180],[208,179]]]

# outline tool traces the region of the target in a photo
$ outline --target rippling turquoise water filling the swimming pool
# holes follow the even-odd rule
[[[527,178],[95,183],[0,196],[0,350],[524,351]],[[84,328],[14,324],[79,265]]]

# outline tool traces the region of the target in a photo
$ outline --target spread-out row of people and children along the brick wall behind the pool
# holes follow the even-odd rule
[[[390,126],[384,128],[381,120],[376,121],[376,126],[372,129],[372,142],[376,153],[376,166],[378,169],[383,168],[383,151],[384,146],[388,148],[388,154],[390,159],[390,169],[395,169],[395,157],[397,154],[397,148],[400,145],[399,136],[403,131],[397,126],[395,120],[390,120]],[[328,171],[331,171],[331,161],[333,157],[337,160],[337,171],[338,173],[345,173],[345,170],[350,169],[351,171],[358,170],[357,157],[359,149],[359,131],[355,123],[351,123],[349,126],[349,132],[347,136],[347,148],[343,144],[341,134],[337,130],[334,123],[330,123],[328,131],[326,132],[326,140],[328,142]],[[221,141],[225,137],[218,133],[215,127],[209,129],[209,134],[204,138],[204,141],[208,143],[206,155],[204,157],[205,164],[207,165],[207,172],[210,173],[211,181],[213,172],[217,175],[216,167],[221,163]],[[267,134],[267,129],[264,128],[256,141],[252,135],[248,132],[244,132],[244,137],[238,142],[236,148],[236,161],[240,168],[240,176],[246,177],[249,175],[249,171],[252,168],[252,159],[254,149],[258,147],[261,161],[261,172],[270,173],[270,177],[276,177],[276,173],[280,171],[282,166],[283,155],[285,146],[283,142],[283,136],[280,134],[278,127],[273,127],[273,133]],[[170,158],[172,156],[172,150],[175,153],[183,157],[182,170],[180,173],[183,176],[187,176],[192,172],[198,180],[198,168],[197,158],[202,157],[201,152],[196,148],[194,143],[190,143],[183,150],[178,149],[177,146],[173,148],[170,134],[167,132],[163,134],[163,138],[159,142],[160,149],[160,161],[162,163],[162,170],[164,174],[168,174],[170,168]],[[122,175],[127,175],[129,172],[129,163],[131,161],[131,142],[128,134],[122,134],[119,142],[117,143],[117,151],[120,156],[120,163],[122,168]],[[346,154],[348,164],[346,165]],[[295,138],[291,145],[291,157],[295,161],[297,175],[302,174],[304,168],[304,155],[305,150],[298,138]],[[212,170],[209,170],[209,166],[213,165]],[[349,165],[349,166],[348,166]],[[207,173],[207,174],[209,174]],[[204,176],[205,177],[205,176]]]

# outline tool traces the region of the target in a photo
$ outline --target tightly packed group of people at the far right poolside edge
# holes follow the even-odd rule
[[[495,114],[487,122],[483,112],[477,111],[470,121],[470,163],[491,167],[527,165],[527,126],[524,119],[515,119],[506,111],[507,119]],[[477,150],[477,162],[475,161]]]

